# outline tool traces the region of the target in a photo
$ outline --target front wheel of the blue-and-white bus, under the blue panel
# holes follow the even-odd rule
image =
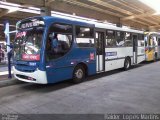
[[[80,83],[85,78],[85,69],[82,65],[78,65],[75,67],[73,72],[73,82]]]

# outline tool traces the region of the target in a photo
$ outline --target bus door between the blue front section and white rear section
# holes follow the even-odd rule
[[[105,32],[96,31],[96,70],[105,71]]]

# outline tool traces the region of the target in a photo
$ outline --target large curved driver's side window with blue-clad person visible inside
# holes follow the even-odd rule
[[[62,57],[70,50],[72,45],[72,26],[55,23],[50,27],[47,38],[47,60]]]

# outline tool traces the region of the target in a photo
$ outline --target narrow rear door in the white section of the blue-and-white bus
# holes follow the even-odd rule
[[[133,35],[133,64],[137,64],[138,36]]]

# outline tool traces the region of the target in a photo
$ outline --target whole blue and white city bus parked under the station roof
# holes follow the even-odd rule
[[[27,18],[16,26],[13,71],[21,81],[79,83],[145,60],[143,31],[51,16]]]

